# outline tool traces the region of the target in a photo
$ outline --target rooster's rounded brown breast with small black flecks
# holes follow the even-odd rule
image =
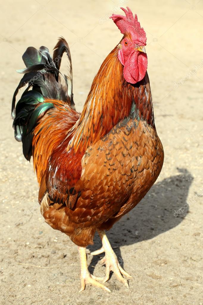
[[[163,147],[152,126],[120,122],[83,156],[81,196],[70,220],[100,226],[121,217],[149,191],[162,165]]]

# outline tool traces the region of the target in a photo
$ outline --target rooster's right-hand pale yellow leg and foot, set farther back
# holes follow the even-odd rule
[[[114,250],[112,249],[109,240],[107,239],[107,235],[105,231],[100,231],[100,230],[97,231],[102,240],[102,248],[94,252],[91,252],[91,254],[97,255],[105,252],[105,257],[103,257],[103,259],[101,260],[101,263],[106,265],[106,276],[103,279],[103,282],[108,281],[110,271],[113,271],[117,279],[121,283],[123,283],[126,287],[129,288],[128,281],[125,278],[123,278],[122,274],[128,278],[132,278],[131,275],[129,275],[119,264],[117,256],[114,253]]]

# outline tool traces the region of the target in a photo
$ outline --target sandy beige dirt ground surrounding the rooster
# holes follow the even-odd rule
[[[103,59],[121,39],[108,16],[126,5],[147,34],[165,162],[142,202],[108,232],[121,264],[133,275],[129,290],[113,274],[106,283],[111,293],[87,285],[79,294],[77,247],[44,223],[32,162],[14,139],[10,111],[20,80],[16,69],[24,68],[21,56],[28,46],[52,50],[57,38],[65,37],[81,110]],[[0,303],[202,305],[203,1],[7,0],[1,1],[0,20]],[[99,246],[95,236],[89,249]],[[88,263],[103,276],[99,256],[88,255]]]

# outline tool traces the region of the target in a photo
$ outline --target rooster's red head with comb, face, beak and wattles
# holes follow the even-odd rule
[[[126,16],[113,14],[113,19],[122,34],[123,39],[118,47],[118,59],[124,66],[123,75],[128,83],[136,84],[141,81],[147,71],[147,54],[145,53],[146,33],[140,27],[138,17],[133,16],[129,7],[124,9]]]

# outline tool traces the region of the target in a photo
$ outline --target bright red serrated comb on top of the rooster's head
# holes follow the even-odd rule
[[[110,18],[113,19],[114,23],[117,25],[122,34],[130,33],[134,40],[138,40],[146,45],[146,33],[143,27],[140,27],[140,23],[138,22],[138,17],[135,14],[135,18],[133,17],[133,13],[127,6],[127,9],[121,7],[126,16],[123,15],[115,15],[113,14]]]

